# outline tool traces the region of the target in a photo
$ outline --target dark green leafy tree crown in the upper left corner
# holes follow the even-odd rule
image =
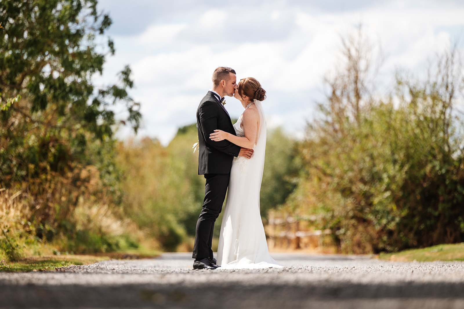
[[[114,113],[107,107],[123,101],[136,131],[141,114],[127,95],[133,87],[129,67],[121,72],[121,86],[96,89],[91,83],[105,61],[97,35],[111,25],[96,0],[2,1],[0,15],[7,19],[0,36],[2,95],[28,97],[31,114],[52,106],[58,128],[79,124],[99,138],[112,132]]]

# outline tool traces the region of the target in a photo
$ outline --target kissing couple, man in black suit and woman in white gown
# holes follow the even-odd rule
[[[198,174],[206,178],[205,199],[197,221],[193,269],[283,267],[269,255],[259,212],[259,191],[266,148],[266,120],[261,101],[266,91],[252,77],[237,84],[235,70],[213,72],[213,89],[197,110]],[[225,96],[245,108],[232,125]],[[226,197],[218,256],[211,248],[214,222]]]

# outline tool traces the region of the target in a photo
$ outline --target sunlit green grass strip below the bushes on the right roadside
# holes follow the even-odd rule
[[[464,243],[410,249],[394,253],[380,253],[380,259],[391,261],[464,261]]]

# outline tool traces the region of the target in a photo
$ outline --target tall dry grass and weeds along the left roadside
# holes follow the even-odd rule
[[[0,260],[43,259],[60,252],[69,252],[72,257],[72,253],[80,252],[118,251],[114,257],[158,254],[152,250],[158,246],[156,240],[147,237],[110,203],[99,203],[95,196],[78,199],[77,206],[65,218],[71,226],[54,230],[52,240],[37,237],[37,227],[31,223],[33,210],[22,191],[0,191]],[[50,225],[54,223],[58,224]]]

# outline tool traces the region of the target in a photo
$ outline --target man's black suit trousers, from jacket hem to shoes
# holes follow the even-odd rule
[[[226,198],[229,174],[205,174],[205,200],[197,221],[195,244],[193,245],[193,259],[200,261],[213,258],[213,230],[214,222],[222,210]]]

